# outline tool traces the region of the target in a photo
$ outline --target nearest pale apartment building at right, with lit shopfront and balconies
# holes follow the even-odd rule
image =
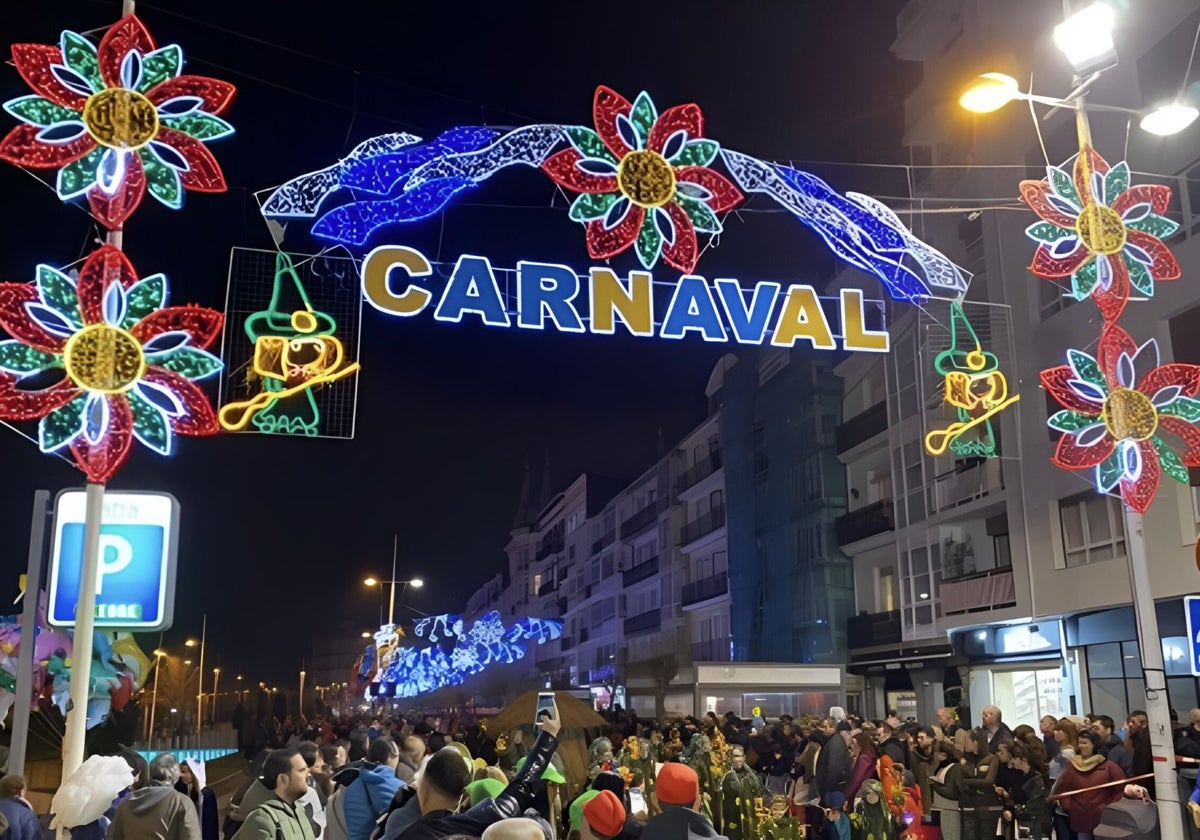
[[[1098,494],[1088,473],[1050,463],[1057,433],[1045,424],[1058,407],[1038,379],[1068,348],[1094,352],[1099,318],[1026,270],[1034,246],[1024,230],[1036,218],[1012,209],[1021,179],[1076,151],[1074,116],[1039,106],[1039,134],[1024,104],[985,115],[956,104],[990,71],[1022,86],[1032,77],[1038,94],[1069,92],[1072,70],[1050,38],[1062,12],[1037,0],[912,0],[898,19],[893,52],[924,71],[906,101],[914,209],[940,211],[912,223],[974,274],[964,312],[1020,402],[992,421],[998,457],[926,451],[925,436],[953,416],[934,370],[950,346],[946,301],[892,306],[892,352],[838,367],[850,498],[836,539],[853,559],[848,667],[865,679],[856,701],[869,714],[898,708],[929,720],[958,703],[978,719],[996,702],[1015,725],[1069,712],[1122,719],[1145,704],[1121,502]],[[1120,62],[1088,100],[1140,109],[1177,94],[1198,25],[1187,0],[1121,6]],[[1183,278],[1132,302],[1121,324],[1139,343],[1157,340],[1163,362],[1200,362],[1200,126],[1152,138],[1124,114],[1091,124],[1093,146],[1110,163],[1127,160],[1135,184],[1172,186],[1170,216],[1182,226],[1168,245]],[[943,212],[953,208],[961,212]],[[877,294],[853,272],[839,282]],[[1200,589],[1198,521],[1195,490],[1164,478],[1145,516],[1146,550],[1170,703],[1184,710],[1198,700],[1181,600]]]

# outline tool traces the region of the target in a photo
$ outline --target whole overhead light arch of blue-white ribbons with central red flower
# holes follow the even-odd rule
[[[966,278],[866,196],[840,196],[821,179],[767,163],[703,136],[696,104],[661,114],[646,92],[629,102],[600,86],[595,127],[532,125],[500,133],[460,127],[422,143],[412,134],[372,138],[342,161],[294,178],[263,204],[268,218],[313,218],[318,239],[364,248],[379,230],[440,212],[464,191],[511,166],[534,167],[577,196],[570,217],[586,227],[588,252],[607,259],[634,248],[652,268],[684,274],[702,247],[696,234],[721,230],[719,214],[761,193],[812,228],[842,259],[874,274],[898,300],[959,296]],[[720,158],[730,176],[714,166]],[[331,209],[328,199],[353,191]]]

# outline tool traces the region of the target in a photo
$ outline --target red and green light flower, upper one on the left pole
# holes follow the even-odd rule
[[[22,125],[0,142],[0,158],[58,169],[59,197],[86,196],[104,227],[120,228],[146,191],[178,210],[185,191],[226,190],[204,144],[233,134],[218,114],[234,86],[182,74],[182,49],[156,47],[137,17],[98,46],[65,31],[58,44],[13,44],[12,60],[35,95],[5,103]]]

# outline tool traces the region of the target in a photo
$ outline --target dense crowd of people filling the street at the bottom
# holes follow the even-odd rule
[[[629,714],[588,733],[596,737],[586,773],[559,755],[557,708],[533,738],[461,721],[440,732],[443,724],[301,719],[288,742],[256,757],[221,826],[203,764],[170,754],[146,763],[128,751],[133,784],[73,838],[1091,840],[1108,805],[1148,802],[1154,790],[1140,710],[1120,728],[1088,715],[1046,716],[1038,730],[1010,728],[995,706],[978,726],[953,709],[928,726],[838,707],[823,719],[770,721]],[[1176,751],[1200,757],[1200,709],[1177,730]],[[18,782],[0,780],[10,826],[25,816],[4,796]],[[1200,826],[1200,788],[1193,800]],[[0,834],[10,836],[25,840]]]

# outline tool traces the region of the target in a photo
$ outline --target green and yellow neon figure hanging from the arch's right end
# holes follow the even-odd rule
[[[925,450],[942,455],[949,448],[962,457],[996,457],[991,418],[1021,395],[1008,395],[1008,380],[1000,372],[996,355],[983,349],[959,302],[950,304],[950,347],[934,359],[934,370],[946,378],[944,400],[954,406],[958,421],[929,432]],[[971,431],[974,434],[965,437]]]

